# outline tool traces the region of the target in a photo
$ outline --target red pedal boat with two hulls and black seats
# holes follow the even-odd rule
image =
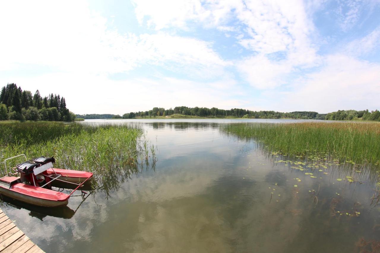
[[[16,157],[20,156],[27,159],[24,154]],[[4,161],[8,176],[0,178],[0,194],[22,202],[44,207],[66,206],[70,196],[92,179],[91,172],[53,168],[53,157],[28,160],[12,168],[14,173],[8,172],[6,161],[16,157]],[[52,190],[51,187],[62,183],[75,188],[70,194]]]

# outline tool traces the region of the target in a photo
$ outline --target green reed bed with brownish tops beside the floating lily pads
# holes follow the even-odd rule
[[[226,134],[253,139],[264,148],[288,155],[328,155],[340,161],[379,164],[379,123],[238,123],[220,127]]]

